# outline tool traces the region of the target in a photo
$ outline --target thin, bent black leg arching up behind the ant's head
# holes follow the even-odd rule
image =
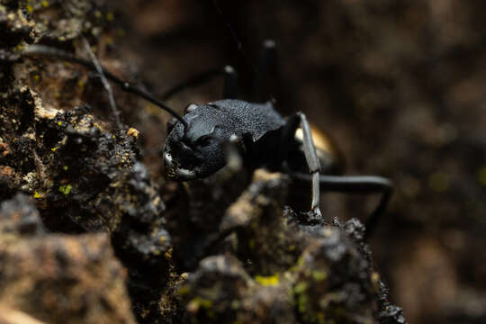
[[[223,98],[236,98],[238,95],[238,75],[233,67],[226,66],[222,68],[211,68],[195,76],[191,76],[189,79],[184,80],[177,85],[173,85],[170,89],[166,90],[164,94],[162,94],[162,100],[166,101],[185,89],[209,82],[216,76],[224,76],[225,78],[223,86]]]

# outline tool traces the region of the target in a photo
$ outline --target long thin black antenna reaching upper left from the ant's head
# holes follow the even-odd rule
[[[81,65],[83,67],[86,67],[89,70],[94,70],[98,72],[102,76],[106,76],[106,78],[112,80],[115,84],[119,85],[121,90],[130,93],[130,94],[136,94],[142,97],[143,99],[147,100],[149,103],[154,103],[157,105],[162,110],[165,110],[166,112],[169,112],[172,114],[178,121],[181,121],[184,125],[184,129],[187,128],[187,123],[184,121],[182,116],[175,112],[170,107],[167,107],[166,104],[162,103],[159,101],[155,96],[152,94],[149,94],[147,91],[140,89],[139,87],[135,85],[130,85],[130,83],[121,80],[118,76],[113,75],[111,72],[107,71],[106,68],[99,66],[100,70],[96,67],[96,64],[94,62],[88,61],[84,58],[78,58],[70,53],[67,53],[66,51],[62,49],[54,49],[49,46],[45,45],[38,45],[34,44],[29,46],[27,49],[24,49],[23,54],[26,56],[30,57],[48,57],[48,58],[60,58],[63,59],[67,62],[75,63],[78,65]],[[106,85],[105,85],[106,88]]]

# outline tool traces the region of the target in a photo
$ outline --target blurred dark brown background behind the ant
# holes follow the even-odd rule
[[[486,2],[220,0],[224,19],[211,0],[108,3],[119,28],[113,55],[128,58],[154,94],[231,64],[244,98],[260,44],[274,39],[278,79],[269,92],[278,109],[305,112],[326,130],[347,174],[395,184],[371,248],[406,319],[486,322]],[[220,90],[215,80],[169,104],[182,111]],[[165,124],[158,112],[134,122],[161,179]],[[323,200],[325,214],[342,220],[363,219],[376,203]]]

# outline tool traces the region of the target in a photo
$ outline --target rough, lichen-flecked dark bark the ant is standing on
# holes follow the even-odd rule
[[[102,1],[0,2],[0,306],[49,323],[405,323],[358,220],[306,220],[262,170],[156,180],[128,125],[137,98],[116,90],[119,129],[98,76],[23,56],[87,57],[85,38],[123,76],[112,18]]]

